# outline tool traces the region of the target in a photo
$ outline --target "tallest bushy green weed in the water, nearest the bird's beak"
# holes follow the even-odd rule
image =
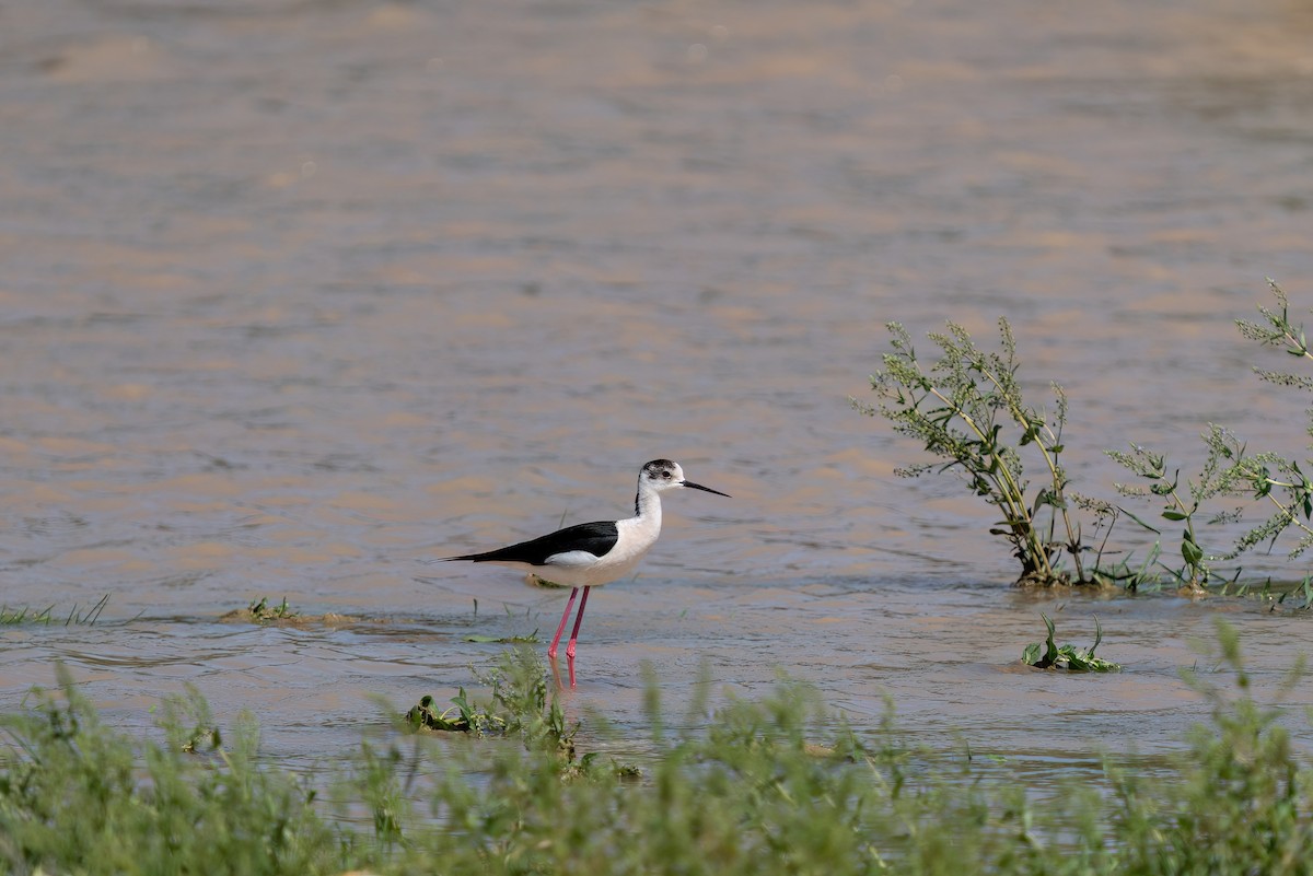
[[[869,416],[881,416],[894,430],[922,442],[941,463],[898,469],[916,477],[955,471],[970,490],[1001,514],[991,528],[1012,547],[1022,565],[1018,584],[1091,584],[1099,581],[1085,565],[1081,525],[1067,496],[1069,479],[1061,464],[1067,399],[1050,384],[1049,413],[1028,405],[1018,380],[1016,341],[1006,319],[999,320],[1001,353],[976,346],[966,329],[948,323],[945,333],[930,333],[940,358],[926,367],[911,336],[889,323],[893,351],[884,370],[871,378],[880,401],[852,400]],[[1023,455],[1040,463],[1043,485],[1031,492]],[[1071,570],[1064,568],[1064,555]],[[1098,565],[1098,564],[1095,564]]]

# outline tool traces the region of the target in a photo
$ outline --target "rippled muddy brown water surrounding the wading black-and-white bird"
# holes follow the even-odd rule
[[[885,321],[1007,316],[1087,493],[1209,421],[1299,452],[1232,320],[1264,277],[1313,303],[1310,45],[1293,0],[5,4],[0,587],[56,623],[0,631],[0,707],[62,660],[117,727],[189,682],[332,757],[370,695],[471,685],[502,647],[466,636],[554,627],[563,594],[423,560],[624,514],[668,456],[734,498],[668,500],[593,595],[599,745],[642,749],[649,661],[675,709],[704,662],[783,670],[1040,775],[1179,746],[1215,618],[1264,691],[1310,619],[1012,591],[847,397]],[[260,597],[358,620],[221,622]],[[1127,671],[1020,666],[1041,611]]]

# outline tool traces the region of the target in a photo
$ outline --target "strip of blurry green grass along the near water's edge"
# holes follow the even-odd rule
[[[1308,873],[1313,772],[1218,640],[1234,686],[1188,679],[1213,716],[1169,767],[1043,788],[794,681],[713,715],[701,686],[671,721],[649,678],[635,776],[575,751],[527,650],[467,703],[500,738],[402,728],[310,780],[260,758],[248,715],[221,736],[194,691],[151,738],[114,732],[60,669],[0,719],[0,872]]]

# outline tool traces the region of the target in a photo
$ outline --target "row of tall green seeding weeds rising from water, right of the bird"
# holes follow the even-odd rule
[[[1313,362],[1304,327],[1291,320],[1285,292],[1272,283],[1278,307],[1259,307],[1260,321],[1237,320],[1241,333],[1266,346],[1284,349],[1304,366]],[[1217,563],[1237,560],[1246,551],[1274,546],[1295,530],[1291,556],[1313,547],[1313,477],[1295,459],[1276,452],[1251,452],[1229,429],[1208,424],[1203,441],[1207,459],[1194,476],[1182,476],[1165,454],[1132,443],[1129,450],[1107,455],[1136,476],[1137,483],[1115,484],[1123,497],[1157,502],[1161,522],[1145,519],[1120,504],[1073,493],[1061,464],[1066,448],[1064,428],[1067,399],[1052,383],[1052,410],[1022,397],[1016,340],[1007,320],[999,320],[999,351],[979,349],[968,332],[949,323],[947,332],[927,337],[939,348],[926,363],[918,357],[911,334],[889,323],[892,351],[884,367],[871,378],[874,405],[853,400],[865,414],[880,416],[895,431],[919,441],[939,458],[898,469],[915,477],[927,472],[956,472],[968,488],[1001,519],[990,534],[1012,548],[1020,585],[1120,585],[1136,590],[1146,585],[1175,584],[1192,591],[1237,590],[1241,569],[1218,573]],[[1313,376],[1255,368],[1274,386],[1313,391]],[[1313,437],[1313,405],[1308,412]],[[1027,480],[1027,466],[1041,472],[1039,487]],[[1305,464],[1313,471],[1313,464]],[[1209,508],[1216,500],[1232,502]],[[1253,506],[1266,508],[1264,518],[1251,525],[1229,548],[1209,549],[1204,526],[1238,523]],[[1132,568],[1128,561],[1109,563],[1109,556],[1129,556],[1108,549],[1113,526],[1128,519],[1152,532],[1157,542],[1148,559]],[[1085,526],[1088,523],[1088,527]],[[1179,527],[1178,535],[1169,535]],[[1086,532],[1096,534],[1087,538]],[[1163,542],[1175,544],[1169,549]],[[1096,542],[1096,543],[1095,543]],[[1179,564],[1174,559],[1180,557]],[[1247,587],[1247,585],[1245,585]],[[1308,590],[1308,580],[1304,589]],[[1309,601],[1305,599],[1305,603]]]

